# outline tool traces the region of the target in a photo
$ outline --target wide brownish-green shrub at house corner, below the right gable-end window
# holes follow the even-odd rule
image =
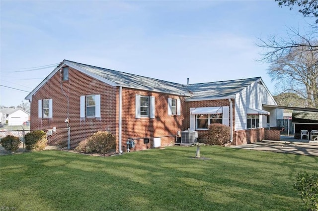
[[[81,141],[75,150],[81,153],[98,153],[104,155],[114,150],[115,147],[115,136],[106,131],[98,131],[88,139]]]

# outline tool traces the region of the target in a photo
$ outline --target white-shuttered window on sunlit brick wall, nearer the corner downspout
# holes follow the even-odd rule
[[[155,97],[136,95],[136,118],[155,118]]]

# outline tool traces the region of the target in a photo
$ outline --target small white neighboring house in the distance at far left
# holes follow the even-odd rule
[[[22,108],[3,108],[0,110],[0,124],[22,125],[29,120],[29,113]]]

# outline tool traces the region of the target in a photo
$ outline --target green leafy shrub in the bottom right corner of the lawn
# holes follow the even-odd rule
[[[309,175],[308,172],[298,173],[294,188],[298,190],[302,201],[312,211],[318,211],[318,173]]]

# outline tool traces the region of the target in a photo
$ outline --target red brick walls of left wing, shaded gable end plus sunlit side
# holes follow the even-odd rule
[[[61,90],[61,73],[58,71],[32,96],[31,130],[49,130],[53,127],[66,128],[67,98]],[[79,142],[97,131],[109,130],[116,135],[118,150],[119,125],[119,88],[107,85],[97,79],[69,67],[69,80],[62,81],[62,87],[69,98],[69,119],[71,126],[70,146],[75,148]],[[155,97],[155,118],[135,117],[135,95]],[[80,118],[80,96],[101,95],[101,118]],[[134,89],[122,89],[122,150],[126,152],[128,139],[136,142],[135,150],[153,148],[153,138],[161,137],[161,146],[172,145],[178,130],[182,130],[183,115],[168,115],[167,99],[180,99],[181,111],[184,100],[178,96],[159,94]],[[38,100],[53,99],[53,118],[38,118]],[[56,140],[65,136],[51,136],[50,143],[67,140]],[[144,138],[150,143],[144,144]],[[61,138],[60,138],[61,139]]]

